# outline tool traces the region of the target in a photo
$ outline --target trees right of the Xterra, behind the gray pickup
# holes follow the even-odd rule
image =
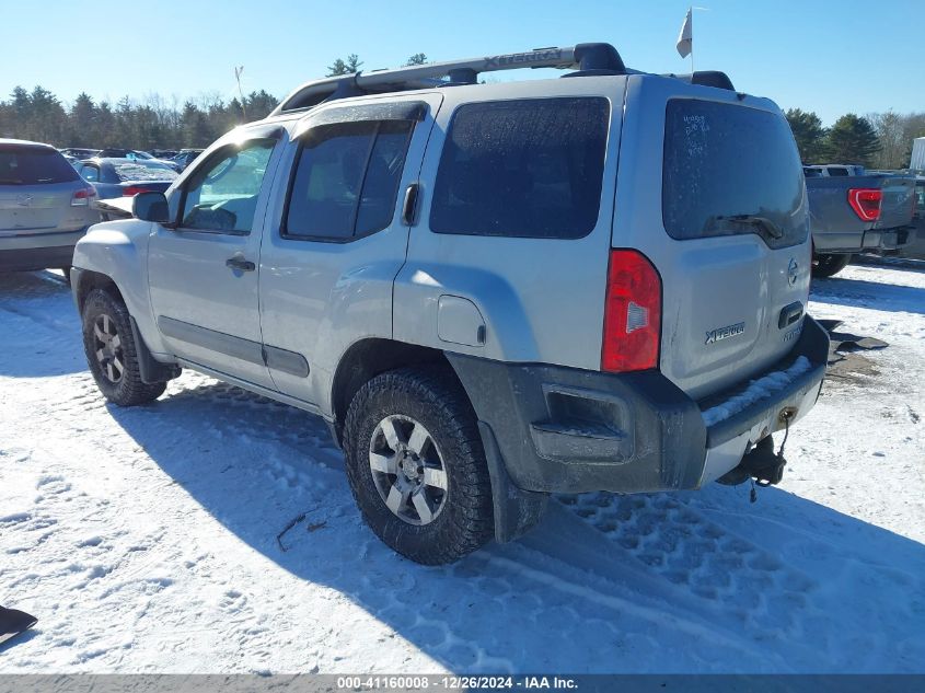
[[[866,117],[843,115],[830,128],[812,112],[786,113],[803,163],[859,163],[872,169],[906,169],[912,140],[925,137],[925,113],[893,111]]]

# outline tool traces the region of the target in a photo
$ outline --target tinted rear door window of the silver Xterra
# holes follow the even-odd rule
[[[344,241],[386,228],[413,129],[411,120],[311,129],[297,154],[282,235]]]

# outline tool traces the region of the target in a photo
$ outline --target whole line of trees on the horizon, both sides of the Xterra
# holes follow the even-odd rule
[[[405,66],[425,65],[423,53]],[[349,74],[363,65],[356,54],[337,58],[327,77]],[[81,93],[65,104],[42,86],[31,92],[16,86],[0,101],[0,137],[14,137],[58,147],[126,147],[129,149],[203,148],[232,128],[266,117],[279,100],[264,90],[226,101],[219,93],[200,94],[180,103],[158,94],[116,103],[94,101]],[[816,113],[790,108],[787,120],[805,163],[859,163],[876,169],[909,166],[912,140],[925,137],[925,113],[893,111],[866,117],[849,113],[830,128]]]

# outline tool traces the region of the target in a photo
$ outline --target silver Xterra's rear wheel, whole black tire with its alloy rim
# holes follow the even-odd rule
[[[363,519],[400,554],[451,563],[494,531],[492,483],[475,414],[439,369],[377,376],[344,426],[347,478]]]

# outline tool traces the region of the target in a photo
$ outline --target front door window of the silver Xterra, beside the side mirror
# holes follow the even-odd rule
[[[250,233],[276,140],[258,139],[217,151],[186,183],[181,227]]]

